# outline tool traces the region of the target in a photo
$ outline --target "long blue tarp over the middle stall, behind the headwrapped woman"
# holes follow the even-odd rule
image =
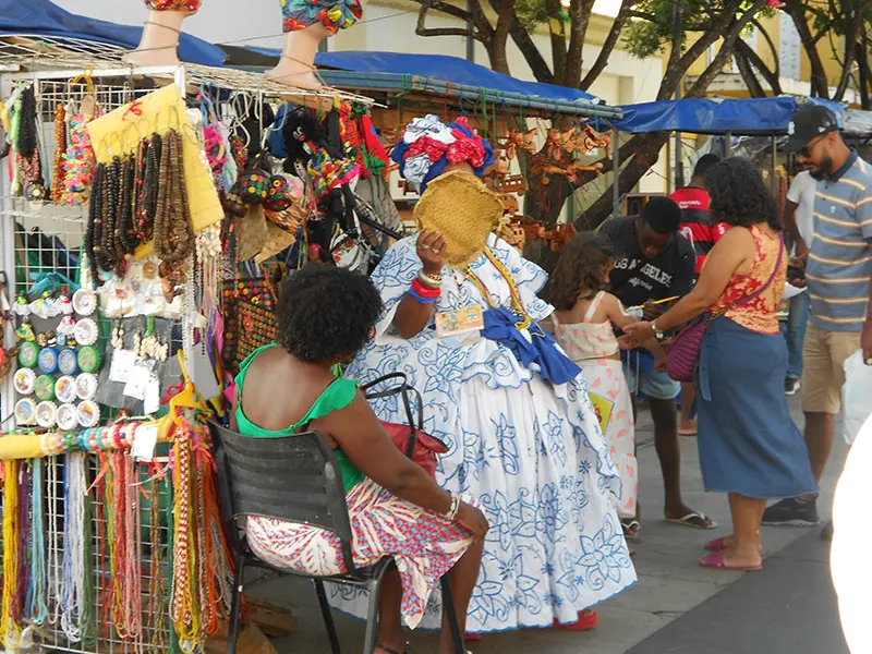
[[[420,75],[452,84],[481,86],[491,90],[538,96],[544,99],[574,102],[586,100],[598,102],[598,98],[583,90],[524,82],[497,73],[472,61],[447,55],[405,55],[402,52],[318,52],[318,66],[355,71],[359,73],[389,73],[395,75]]]

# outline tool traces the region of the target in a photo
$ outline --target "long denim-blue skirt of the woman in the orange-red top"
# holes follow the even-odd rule
[[[806,441],[787,410],[787,342],[713,320],[697,372],[705,489],[770,499],[816,493]]]

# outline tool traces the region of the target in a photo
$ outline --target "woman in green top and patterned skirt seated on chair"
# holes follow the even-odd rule
[[[254,437],[317,431],[334,448],[353,530],[354,565],[392,556],[379,601],[379,654],[405,651],[402,621],[414,628],[448,573],[460,621],[479,576],[487,520],[472,500],[443,491],[393,445],[354,382],[334,377],[372,336],[382,299],[364,276],[310,265],[283,283],[277,343],[242,364],[231,426]],[[243,409],[244,408],[244,409]],[[263,560],[310,574],[344,571],[335,534],[268,518],[249,519],[247,540]],[[452,652],[443,629],[439,652]]]

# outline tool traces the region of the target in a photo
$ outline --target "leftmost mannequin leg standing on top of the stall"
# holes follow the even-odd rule
[[[124,56],[133,65],[179,65],[182,21],[199,9],[201,0],[146,0],[150,10],[138,47]]]

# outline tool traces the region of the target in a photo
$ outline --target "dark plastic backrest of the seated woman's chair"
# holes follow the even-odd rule
[[[317,432],[255,438],[209,422],[218,465],[221,512],[231,545],[241,547],[237,519],[275,518],[339,536],[350,574],[351,523],[336,456]]]

